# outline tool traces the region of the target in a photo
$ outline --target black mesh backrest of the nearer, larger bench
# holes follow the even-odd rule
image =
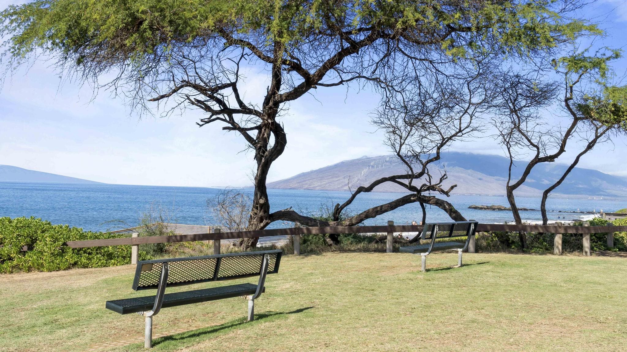
[[[217,254],[214,256],[155,259],[137,262],[133,289],[155,289],[159,286],[159,277],[163,263],[167,262],[169,273],[167,286],[198,284],[208,281],[240,279],[260,276],[263,256],[268,255],[268,274],[276,274],[283,251],[244,252]]]

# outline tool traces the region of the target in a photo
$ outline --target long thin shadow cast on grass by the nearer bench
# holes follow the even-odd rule
[[[184,333],[174,334],[171,336],[162,336],[161,338],[156,338],[152,340],[152,346],[155,347],[155,346],[159,346],[159,344],[166,344],[172,341],[178,341],[178,342],[181,342],[182,344],[185,344],[186,342],[200,340],[202,336],[218,334],[221,332],[226,333],[232,329],[237,328],[238,326],[247,325],[247,324],[256,324],[260,321],[271,321],[271,320],[279,318],[280,316],[285,316],[287,314],[302,313],[303,311],[307,311],[312,308],[314,307],[305,307],[305,308],[295,309],[290,312],[260,313],[260,314],[255,314],[255,320],[250,321],[250,322],[245,321],[245,319],[243,318],[240,318],[240,319],[232,320],[232,321],[229,321],[228,323],[224,323],[218,326],[208,326],[207,328],[200,328],[196,330],[186,331]]]

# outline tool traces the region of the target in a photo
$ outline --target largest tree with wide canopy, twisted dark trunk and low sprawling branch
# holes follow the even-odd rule
[[[435,159],[426,161],[436,161],[441,148],[473,128],[438,131],[460,122],[460,116],[467,119],[468,113],[460,115],[460,110],[451,108],[446,116],[432,117],[406,108],[419,105],[421,100],[411,97],[421,96],[428,83],[424,77],[440,82],[455,78],[456,65],[468,70],[505,58],[531,60],[577,36],[599,33],[596,26],[569,17],[580,6],[548,0],[43,0],[5,9],[0,35],[7,38],[3,48],[9,66],[45,58],[76,80],[113,77],[97,86],[124,94],[135,107],[151,109],[152,102],[166,113],[195,108],[206,113],[200,126],[217,124],[240,134],[256,162],[248,229],[257,230],[277,220],[358,224],[411,202],[454,210],[443,199],[425,198],[424,191],[447,190],[438,189],[439,178],[425,179],[425,168],[414,170],[410,162],[403,176],[409,195],[352,217],[321,223],[291,209],[270,212],[266,177],[287,147],[282,116],[288,104],[317,89],[369,85],[383,97],[385,112],[379,122],[401,118],[401,128],[430,126],[428,134],[415,134],[414,129],[408,136],[428,138],[431,144],[414,144],[398,153],[405,161],[414,155],[413,162],[424,166],[416,152],[424,148],[435,152]],[[268,75],[262,101],[249,101],[242,93],[243,72],[251,67],[263,68]],[[477,85],[469,81],[472,77],[465,79]],[[470,102],[472,110],[477,103],[466,93],[456,106]],[[399,95],[410,98],[404,101]],[[396,102],[390,104],[390,99]],[[377,184],[401,179],[391,177]],[[423,185],[411,181],[419,179]],[[334,215],[343,207],[336,209]]]

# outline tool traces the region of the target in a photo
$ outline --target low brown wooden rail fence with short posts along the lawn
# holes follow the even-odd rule
[[[394,225],[393,221],[388,221],[387,225],[377,226],[321,226],[321,227],[290,227],[287,229],[271,229],[256,231],[220,232],[214,229],[213,234],[189,234],[173,236],[150,236],[139,237],[133,234],[132,237],[118,239],[96,239],[88,241],[69,241],[66,246],[71,248],[101,247],[101,246],[133,246],[132,262],[137,262],[137,254],[140,244],[169,243],[169,242],[191,242],[191,241],[214,241],[214,252],[219,253],[219,241],[223,239],[243,239],[254,237],[272,236],[293,236],[294,254],[300,254],[300,236],[307,234],[364,234],[364,233],[387,233],[387,252],[392,252],[394,232],[421,232],[422,225]],[[562,254],[562,234],[581,234],[584,256],[591,255],[590,235],[607,233],[608,247],[614,247],[614,232],[627,231],[627,226],[614,226],[608,223],[607,226],[590,226],[584,222],[583,226],[567,225],[515,225],[515,224],[478,224],[477,232],[508,231],[508,232],[545,232],[555,234],[554,254]],[[468,251],[475,252],[475,238],[471,237]]]

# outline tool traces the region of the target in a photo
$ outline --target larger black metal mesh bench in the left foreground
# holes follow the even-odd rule
[[[216,256],[157,259],[137,262],[133,289],[157,289],[154,296],[107,301],[107,309],[120,314],[139,313],[145,317],[144,347],[152,347],[152,316],[161,308],[245,297],[248,321],[253,320],[255,299],[265,292],[266,274],[276,274],[282,251],[218,254]],[[209,281],[259,276],[257,284],[235,284],[166,294],[166,286],[183,286]]]

